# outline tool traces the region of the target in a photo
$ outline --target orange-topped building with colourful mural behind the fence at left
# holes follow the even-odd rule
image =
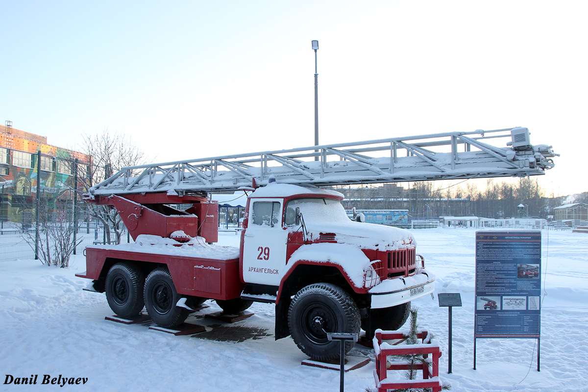
[[[90,163],[90,156],[49,145],[45,136],[12,128],[12,122],[6,121],[0,125],[0,220],[30,224],[34,220],[37,185],[48,205],[71,203],[75,194],[74,167],[78,165],[79,173]]]

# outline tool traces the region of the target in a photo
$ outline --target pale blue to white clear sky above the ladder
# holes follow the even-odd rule
[[[588,191],[582,1],[0,0],[0,120],[79,148],[128,135],[158,162],[529,128]]]

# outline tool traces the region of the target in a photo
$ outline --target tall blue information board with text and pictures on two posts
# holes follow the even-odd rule
[[[541,231],[476,232],[474,338],[540,338]]]

